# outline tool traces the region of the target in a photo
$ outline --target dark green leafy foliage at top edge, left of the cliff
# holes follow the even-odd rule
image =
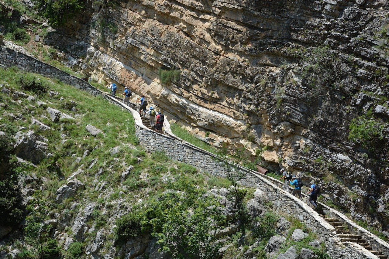
[[[33,0],[39,13],[49,19],[52,26],[61,26],[84,8],[83,0]]]

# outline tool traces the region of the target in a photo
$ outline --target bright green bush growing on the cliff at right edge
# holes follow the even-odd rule
[[[374,151],[375,147],[384,139],[384,124],[371,118],[371,110],[366,115],[361,115],[350,122],[349,139],[359,142],[363,147]]]

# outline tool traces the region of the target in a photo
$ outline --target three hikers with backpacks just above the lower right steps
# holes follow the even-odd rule
[[[282,189],[284,189],[284,191],[289,193],[289,184],[294,186],[294,190],[292,193],[293,196],[296,196],[296,194],[298,194],[300,200],[303,200],[301,197],[301,187],[303,187],[303,182],[301,182],[301,179],[297,178],[296,175],[292,175],[290,172],[287,172],[284,168],[281,168],[280,172],[282,173],[280,180],[284,180]],[[314,180],[312,180],[310,190],[307,192],[307,194],[310,194],[309,203],[314,206],[314,210],[317,208],[316,200],[319,191],[320,191],[320,187],[315,184]]]

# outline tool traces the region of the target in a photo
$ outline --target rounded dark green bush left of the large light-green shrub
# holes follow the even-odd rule
[[[117,219],[115,225],[115,241],[124,243],[142,233],[142,216],[139,213],[130,213]]]

